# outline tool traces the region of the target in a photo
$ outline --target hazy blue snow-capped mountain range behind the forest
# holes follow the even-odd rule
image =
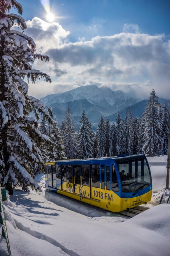
[[[147,100],[128,97],[122,91],[112,91],[109,87],[81,86],[73,90],[47,95],[41,100],[47,107],[51,106],[53,115],[56,116],[58,123],[63,121],[63,116],[69,106],[79,127],[81,113],[84,110],[89,121],[93,124],[95,130],[101,115],[110,122],[115,122],[117,112],[120,111],[124,118],[125,110],[131,109],[133,117],[141,117]],[[167,102],[167,108],[170,110],[170,100],[159,98],[159,102],[164,105]]]

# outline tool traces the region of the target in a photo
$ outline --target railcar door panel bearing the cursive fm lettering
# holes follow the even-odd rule
[[[81,166],[81,195],[90,198],[90,165]]]

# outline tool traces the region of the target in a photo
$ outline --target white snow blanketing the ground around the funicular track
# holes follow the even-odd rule
[[[4,203],[12,256],[169,256],[166,166],[151,164],[151,171],[153,197],[147,204],[151,208],[132,219],[51,192],[45,196],[45,189],[42,193],[15,190],[8,205]],[[43,179],[42,174],[37,176],[38,181]],[[54,197],[56,203],[47,200]]]

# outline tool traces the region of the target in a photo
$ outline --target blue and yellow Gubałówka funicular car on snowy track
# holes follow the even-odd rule
[[[47,162],[46,189],[120,212],[151,200],[152,178],[144,155]]]

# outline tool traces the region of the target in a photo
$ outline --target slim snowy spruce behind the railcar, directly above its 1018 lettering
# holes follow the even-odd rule
[[[105,131],[105,121],[101,116],[97,127],[97,157],[105,156],[106,147],[106,131]]]

